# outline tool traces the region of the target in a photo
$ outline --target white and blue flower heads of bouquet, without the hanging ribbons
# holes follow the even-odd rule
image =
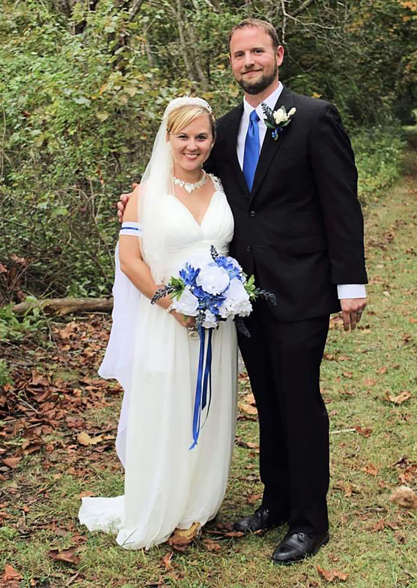
[[[195,265],[186,263],[179,277],[160,288],[152,302],[169,294],[177,312],[196,317],[197,330],[216,328],[221,320],[233,317],[237,329],[250,336],[241,319],[250,315],[253,300],[263,296],[275,303],[275,296],[257,288],[254,277],[247,278],[236,259],[218,255],[213,246],[211,260]]]

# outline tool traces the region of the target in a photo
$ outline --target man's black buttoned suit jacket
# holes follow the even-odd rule
[[[275,106],[297,112],[274,141],[267,129],[248,191],[236,143],[243,105],[217,121],[208,171],[223,183],[234,221],[230,255],[273,292],[271,312],[302,320],[340,309],[337,284],[365,284],[357,169],[337,109],[284,87]]]

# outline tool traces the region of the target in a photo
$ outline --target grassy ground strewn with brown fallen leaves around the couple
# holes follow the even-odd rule
[[[170,559],[167,545],[128,552],[113,536],[79,526],[80,493],[123,493],[113,446],[120,393],[95,374],[109,326],[96,315],[51,321],[55,343],[46,352],[6,348],[9,363],[15,354],[14,384],[5,387],[3,405],[14,399],[16,414],[0,423],[0,574],[12,566],[18,575],[6,568],[0,586],[311,588],[328,585],[320,566],[348,574],[334,585],[417,588],[417,511],[388,500],[401,483],[417,487],[416,211],[417,157],[409,151],[401,181],[366,211],[365,315],[349,334],[338,317],[331,321],[321,379],[331,422],[331,542],[314,559],[270,563],[284,528],[226,534],[261,493],[258,423],[246,412],[216,523],[184,552]],[[244,402],[246,377],[240,384]],[[392,401],[405,391],[408,399]],[[85,432],[99,439],[80,443]],[[17,461],[8,462],[10,456]],[[57,559],[62,550],[68,551],[58,557],[68,561]]]

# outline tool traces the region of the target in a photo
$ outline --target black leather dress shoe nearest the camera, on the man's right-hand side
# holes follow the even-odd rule
[[[305,557],[315,555],[320,547],[328,543],[329,533],[311,535],[309,533],[288,532],[276,547],[272,560],[278,564],[299,562]]]

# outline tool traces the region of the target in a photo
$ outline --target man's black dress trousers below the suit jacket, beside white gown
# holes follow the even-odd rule
[[[283,322],[263,300],[238,335],[258,409],[263,506],[294,532],[328,530],[329,421],[320,363],[329,316]]]

